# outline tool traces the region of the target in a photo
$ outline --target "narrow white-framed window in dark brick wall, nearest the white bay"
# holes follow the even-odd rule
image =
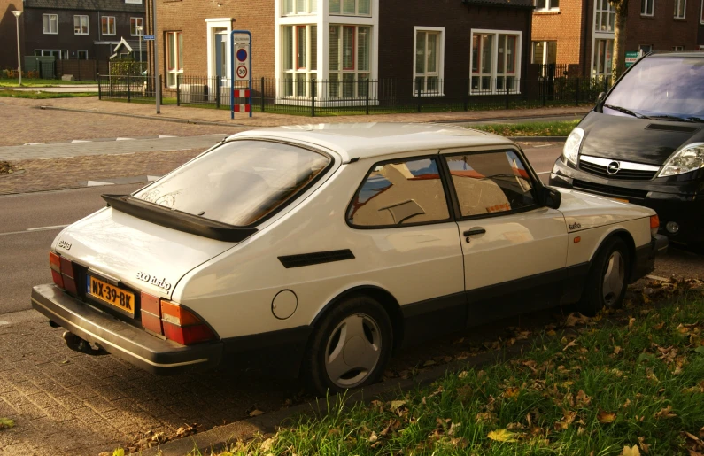
[[[442,95],[443,46],[445,29],[415,28],[414,96]]]

